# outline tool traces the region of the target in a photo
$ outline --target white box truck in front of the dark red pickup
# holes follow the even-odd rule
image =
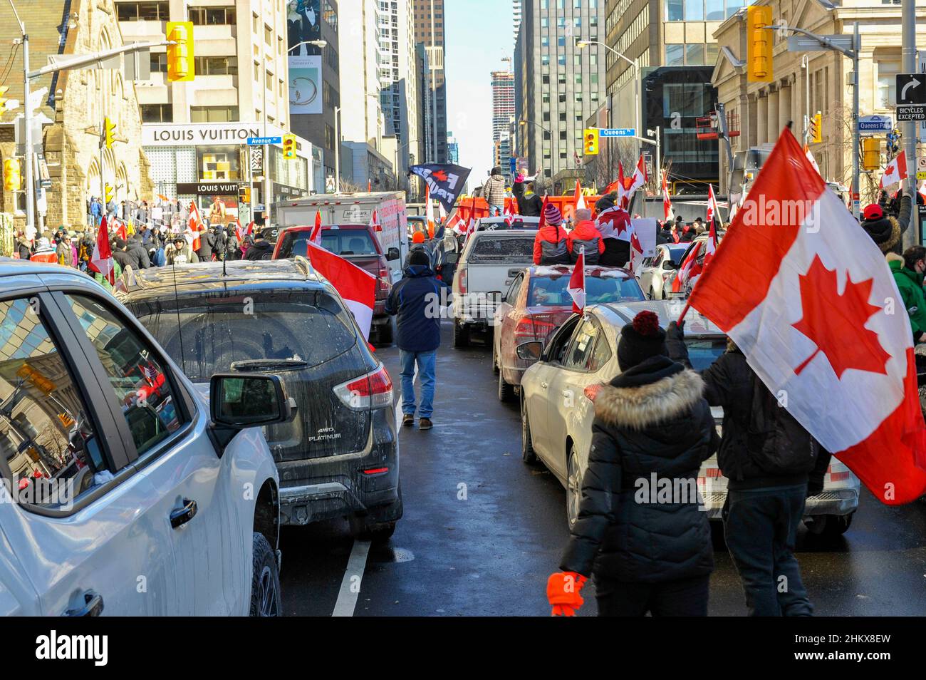
[[[274,214],[282,231],[287,227],[306,227],[315,224],[316,212],[321,213],[321,224],[369,225],[369,220],[376,210],[381,231],[376,235],[382,246],[382,253],[387,254],[392,283],[402,278],[402,265],[408,255],[407,220],[405,193],[400,191],[374,192],[370,194],[318,194],[281,201],[276,204]],[[389,258],[388,254],[397,250],[398,258]]]

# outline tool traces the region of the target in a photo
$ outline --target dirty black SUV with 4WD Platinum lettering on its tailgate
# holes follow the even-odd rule
[[[280,375],[298,407],[265,428],[284,524],[347,516],[386,540],[402,516],[393,384],[303,258],[136,272],[116,295],[207,397],[215,372]]]

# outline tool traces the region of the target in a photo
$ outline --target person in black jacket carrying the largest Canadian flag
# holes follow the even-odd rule
[[[687,363],[684,322],[670,323],[668,336],[669,356]],[[823,490],[830,453],[782,408],[732,340],[701,377],[707,402],[723,408],[723,531],[749,614],[810,616],[795,539],[806,498]]]

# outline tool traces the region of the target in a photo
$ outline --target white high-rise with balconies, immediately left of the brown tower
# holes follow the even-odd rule
[[[412,0],[380,2],[380,85],[386,134],[392,137],[396,174],[420,162],[418,71]]]

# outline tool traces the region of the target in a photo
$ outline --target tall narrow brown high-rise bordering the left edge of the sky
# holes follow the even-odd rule
[[[414,0],[415,42],[424,45],[421,97],[425,159],[447,161],[447,88],[444,79],[444,0]]]

